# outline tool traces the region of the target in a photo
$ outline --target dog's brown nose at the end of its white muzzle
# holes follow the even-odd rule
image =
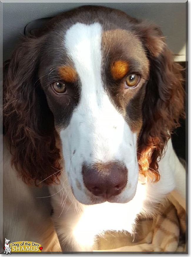
[[[87,189],[96,196],[109,198],[119,195],[127,184],[127,169],[122,163],[97,163],[83,165],[83,181]]]

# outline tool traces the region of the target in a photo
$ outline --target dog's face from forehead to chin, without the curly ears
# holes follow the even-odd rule
[[[128,202],[138,181],[146,52],[136,35],[113,24],[77,22],[58,32],[40,77],[73,194],[84,204]]]

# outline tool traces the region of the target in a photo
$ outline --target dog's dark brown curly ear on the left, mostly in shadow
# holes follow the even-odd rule
[[[53,114],[38,82],[39,41],[23,39],[5,65],[3,122],[12,164],[24,182],[37,183],[48,177],[44,182],[50,184],[61,167]]]

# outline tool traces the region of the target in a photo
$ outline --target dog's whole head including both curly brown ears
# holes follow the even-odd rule
[[[24,38],[5,69],[4,125],[25,182],[65,172],[84,204],[128,202],[183,113],[181,67],[158,27],[83,6]],[[53,175],[54,174],[54,175]]]

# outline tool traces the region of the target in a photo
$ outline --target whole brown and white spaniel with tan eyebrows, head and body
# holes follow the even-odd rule
[[[4,67],[5,236],[92,251],[170,192],[184,200],[170,139],[181,69],[159,27],[111,8],[81,6],[24,37]]]

